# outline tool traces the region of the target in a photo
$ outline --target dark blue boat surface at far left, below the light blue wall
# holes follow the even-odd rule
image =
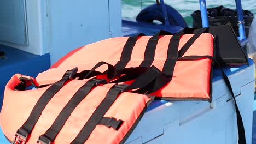
[[[33,55],[4,45],[0,45],[0,51],[5,53],[5,58],[0,59],[0,107],[2,107],[4,87],[10,77],[16,73],[37,76],[38,73],[49,69],[50,55],[49,53],[42,56]]]

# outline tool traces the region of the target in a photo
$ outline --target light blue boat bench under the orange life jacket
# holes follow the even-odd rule
[[[254,62],[224,68],[236,95],[246,141],[252,143]],[[219,69],[213,71],[212,102],[155,100],[127,139],[141,143],[237,143],[234,100]]]

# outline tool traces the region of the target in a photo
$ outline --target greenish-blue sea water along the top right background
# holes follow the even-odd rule
[[[200,9],[199,0],[165,0],[164,2],[175,8],[184,17],[189,26],[191,26],[193,22],[190,15],[195,10]],[[122,0],[122,15],[126,18],[135,19],[139,11],[155,3],[155,0]],[[206,0],[206,4],[207,8],[223,5],[227,8],[236,9],[235,0]],[[242,8],[256,15],[255,0],[242,0]]]

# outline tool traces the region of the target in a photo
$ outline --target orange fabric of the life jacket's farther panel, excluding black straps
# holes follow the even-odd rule
[[[193,35],[194,34],[186,34],[181,37],[179,50]],[[164,67],[168,44],[171,37],[171,35],[161,37],[158,41],[158,45],[156,46],[155,60],[152,65],[160,70]],[[137,40],[132,51],[131,61],[126,65],[126,68],[138,67],[139,64],[141,64],[149,38],[150,37],[145,36]],[[78,67],[82,70],[91,69],[99,61],[105,61],[115,65],[120,60],[121,52],[126,40],[127,37],[111,38],[79,48],[76,52],[72,52],[72,55],[69,55],[68,59],[63,58],[58,61],[58,68],[50,69],[52,75],[55,75],[55,79],[59,80],[67,68],[72,69],[73,67]],[[213,36],[211,34],[204,33],[196,39],[184,56],[213,56],[213,47]],[[162,99],[166,100],[210,100],[209,83],[211,63],[211,59],[177,61],[172,81],[152,95],[162,97]],[[103,72],[106,69],[107,67],[105,66],[98,68],[97,70]],[[60,71],[62,71],[62,73],[58,74]],[[49,71],[45,73],[47,74],[48,72]],[[45,77],[44,73],[39,74],[38,77]],[[50,83],[50,81],[45,83]]]

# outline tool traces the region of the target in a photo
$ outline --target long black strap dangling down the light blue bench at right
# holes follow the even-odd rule
[[[237,120],[237,128],[238,128],[238,143],[245,144],[246,143],[245,128],[243,126],[243,119],[242,119],[241,113],[240,113],[237,103],[236,103],[235,94],[232,90],[232,86],[231,86],[228,76],[226,76],[226,74],[224,73],[224,70],[222,69],[222,66],[218,63],[218,61],[215,58],[213,58],[212,56],[184,56],[184,57],[179,58],[178,61],[193,61],[193,60],[197,60],[197,59],[201,59],[201,58],[212,59],[219,66],[220,70],[222,71],[224,82],[226,83],[226,86],[228,86],[229,91],[230,91],[232,98],[234,99],[234,103],[235,103],[236,120]]]

